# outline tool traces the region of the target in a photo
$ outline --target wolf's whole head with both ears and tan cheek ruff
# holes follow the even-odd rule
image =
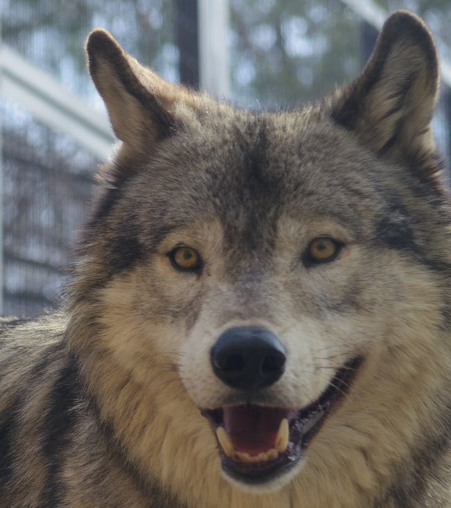
[[[383,483],[445,361],[451,250],[425,24],[398,11],[356,81],[291,113],[171,85],[103,30],[87,55],[121,143],[75,268],[71,345],[108,357],[95,389],[124,448],[167,484],[188,481],[179,461],[257,492]],[[114,376],[150,413],[119,408]]]

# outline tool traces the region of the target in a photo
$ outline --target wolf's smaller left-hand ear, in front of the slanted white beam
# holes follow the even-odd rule
[[[116,136],[139,150],[171,135],[174,102],[187,93],[140,65],[107,31],[96,28],[87,38],[87,61],[110,115]]]

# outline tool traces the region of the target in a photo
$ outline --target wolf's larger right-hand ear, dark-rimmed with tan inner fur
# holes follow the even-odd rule
[[[386,20],[364,72],[332,102],[333,119],[377,154],[422,160],[434,150],[431,120],[439,62],[425,23],[406,10]]]

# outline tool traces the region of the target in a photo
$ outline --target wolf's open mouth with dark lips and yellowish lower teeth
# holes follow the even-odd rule
[[[358,357],[337,370],[321,396],[302,409],[255,404],[203,409],[219,444],[223,470],[239,482],[261,484],[295,466],[348,393],[360,363]]]

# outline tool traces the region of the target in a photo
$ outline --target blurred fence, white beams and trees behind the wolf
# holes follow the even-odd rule
[[[432,28],[451,148],[451,0],[0,0],[0,315],[58,305],[112,133],[85,72],[95,26],[165,79],[251,108],[314,101],[353,79],[386,16]]]

